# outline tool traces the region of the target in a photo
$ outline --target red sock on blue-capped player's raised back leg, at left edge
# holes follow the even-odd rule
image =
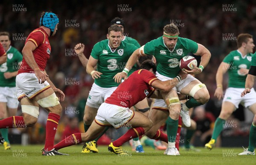
[[[23,116],[11,116],[0,120],[0,128],[26,128]]]

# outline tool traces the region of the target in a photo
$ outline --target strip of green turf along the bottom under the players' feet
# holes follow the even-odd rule
[[[252,165],[256,164],[255,156],[238,156],[242,148],[214,148],[208,151],[205,148],[201,152],[183,151],[180,156],[166,156],[164,151],[154,151],[144,147],[145,153],[135,153],[130,146],[124,146],[123,150],[128,156],[118,156],[108,152],[107,146],[99,146],[99,153],[81,153],[82,145],[71,146],[59,150],[70,156],[41,156],[43,145],[12,145],[11,150],[4,151],[0,146],[0,165],[163,165],[163,164],[195,164],[195,165]]]

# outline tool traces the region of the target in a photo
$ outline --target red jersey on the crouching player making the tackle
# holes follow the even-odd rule
[[[137,70],[116,88],[105,103],[130,108],[154,93],[155,89],[151,84],[156,80],[152,72],[146,69]]]

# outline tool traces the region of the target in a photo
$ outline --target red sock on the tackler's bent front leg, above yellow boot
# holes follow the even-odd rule
[[[123,136],[121,136],[119,139],[116,139],[116,141],[113,142],[113,145],[115,147],[119,147],[125,142],[128,142],[131,139],[134,139],[136,137],[139,137],[141,135],[144,135],[145,130],[143,127],[133,127],[129,129]]]

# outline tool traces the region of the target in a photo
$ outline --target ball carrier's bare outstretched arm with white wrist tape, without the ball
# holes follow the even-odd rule
[[[140,49],[135,50],[130,58],[128,59],[125,69],[122,72],[117,73],[113,78],[115,79],[115,82],[121,83],[122,78],[127,78],[128,72],[130,69],[134,66],[134,64],[138,61],[139,57],[142,56],[140,54]]]

